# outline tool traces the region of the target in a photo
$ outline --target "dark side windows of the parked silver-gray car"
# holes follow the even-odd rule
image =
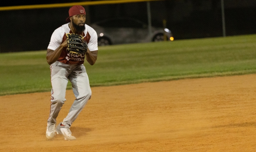
[[[128,19],[115,19],[115,20],[107,20],[104,22],[98,23],[99,26],[105,28],[144,28],[145,25],[136,20],[128,20]]]

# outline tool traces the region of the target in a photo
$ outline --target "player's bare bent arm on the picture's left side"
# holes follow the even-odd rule
[[[49,65],[56,62],[59,59],[63,47],[66,47],[67,44],[68,42],[66,39],[62,44],[60,44],[60,46],[56,50],[47,49],[46,60]]]

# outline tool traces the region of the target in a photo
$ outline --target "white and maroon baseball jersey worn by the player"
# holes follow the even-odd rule
[[[60,44],[67,39],[66,33],[73,33],[68,25],[69,23],[64,24],[61,27],[57,28],[52,33],[52,37],[51,37],[50,44],[48,45],[48,49],[56,50],[60,46]],[[90,51],[98,50],[98,36],[96,31],[93,28],[85,24],[85,30],[81,32],[81,34],[84,37],[84,41],[87,42],[88,49]],[[69,54],[66,50],[67,50],[67,47],[64,47],[58,61],[65,64],[83,64],[84,63],[85,55]]]

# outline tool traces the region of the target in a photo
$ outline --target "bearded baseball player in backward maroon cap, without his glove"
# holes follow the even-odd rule
[[[76,120],[81,110],[91,99],[92,91],[89,79],[83,65],[84,59],[93,65],[97,59],[98,43],[96,31],[85,24],[85,10],[83,6],[74,5],[69,11],[67,24],[57,28],[51,37],[47,48],[46,59],[51,69],[51,108],[47,120],[46,138],[51,140],[57,134],[63,135],[65,140],[76,140],[71,135],[70,126]],[[84,55],[72,54],[66,51],[66,34],[78,34],[83,36],[88,44],[87,52]],[[65,99],[68,80],[72,84],[75,94],[75,101],[70,108],[68,115],[60,124],[56,125],[56,118]]]

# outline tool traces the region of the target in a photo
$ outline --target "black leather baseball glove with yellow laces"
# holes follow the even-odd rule
[[[78,34],[67,33],[67,52],[74,54],[83,54],[87,52],[87,43],[84,41],[84,37]]]

